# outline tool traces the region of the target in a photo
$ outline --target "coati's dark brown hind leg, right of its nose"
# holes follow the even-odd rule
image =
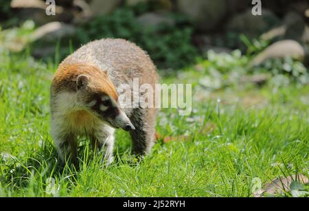
[[[135,109],[130,120],[135,126],[134,131],[130,131],[133,142],[133,153],[145,155],[150,153],[155,144],[155,121],[156,109]]]

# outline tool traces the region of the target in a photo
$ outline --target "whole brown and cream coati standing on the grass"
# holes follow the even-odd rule
[[[62,161],[71,157],[76,164],[77,137],[87,135],[110,164],[117,128],[129,131],[133,153],[150,153],[156,109],[122,108],[118,102],[117,87],[132,86],[133,78],[139,79],[139,85],[151,85],[155,96],[155,65],[146,52],[124,39],[92,41],[60,63],[52,80],[50,109],[51,135]]]

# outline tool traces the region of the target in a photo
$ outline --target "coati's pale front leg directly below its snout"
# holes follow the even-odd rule
[[[114,129],[105,126],[94,130],[90,135],[91,146],[93,151],[104,153],[105,164],[109,165],[113,162],[113,148],[114,148]]]

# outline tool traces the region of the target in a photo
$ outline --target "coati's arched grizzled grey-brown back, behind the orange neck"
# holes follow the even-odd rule
[[[155,85],[157,71],[146,52],[124,39],[104,38],[83,45],[60,65],[85,63],[100,67],[118,87],[139,78],[141,84]]]

